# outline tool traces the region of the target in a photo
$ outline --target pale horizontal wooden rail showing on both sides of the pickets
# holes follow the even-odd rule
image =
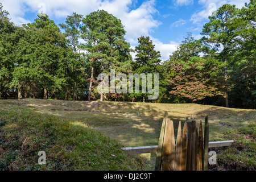
[[[234,140],[209,142],[209,148],[231,146],[233,143]],[[146,154],[157,152],[158,146],[123,147],[121,149],[126,150],[129,154]]]

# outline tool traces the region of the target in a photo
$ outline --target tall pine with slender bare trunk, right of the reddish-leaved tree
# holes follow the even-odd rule
[[[224,63],[224,90],[226,93],[226,107],[229,107],[228,99],[228,67],[230,64],[230,57],[232,57],[233,49],[237,46],[237,24],[236,19],[239,10],[235,5],[223,5],[216,14],[209,16],[209,22],[204,25],[202,35],[206,35],[205,42],[210,46],[214,44],[219,48],[219,59]],[[220,49],[222,47],[222,49]]]

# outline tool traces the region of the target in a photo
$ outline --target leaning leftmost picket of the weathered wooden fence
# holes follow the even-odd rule
[[[163,138],[164,138],[164,130],[166,128],[167,117],[168,117],[168,113],[167,113],[167,111],[165,111],[161,131],[160,131],[160,137],[158,140],[158,151],[157,151],[156,160],[155,160],[155,171],[160,171],[161,166],[162,166]]]

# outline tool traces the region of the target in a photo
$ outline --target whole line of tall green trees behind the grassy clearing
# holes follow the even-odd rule
[[[198,103],[255,109],[255,0],[223,5],[195,40],[188,32],[170,59],[148,36],[131,49],[121,20],[107,11],[73,13],[55,24],[46,14],[15,26],[0,3],[0,98]],[[82,42],[82,43],[81,43]],[[136,52],[135,60],[131,52]],[[159,73],[159,97],[99,94],[97,76]],[[117,84],[117,83],[115,83]]]

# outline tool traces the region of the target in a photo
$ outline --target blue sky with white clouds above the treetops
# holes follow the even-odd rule
[[[0,0],[16,24],[34,22],[38,13],[46,13],[56,24],[64,23],[73,12],[87,15],[104,9],[121,19],[126,40],[138,45],[141,35],[150,36],[162,60],[176,50],[187,32],[195,39],[208,22],[208,15],[225,3],[241,8],[249,0]],[[132,53],[135,56],[135,53]]]

